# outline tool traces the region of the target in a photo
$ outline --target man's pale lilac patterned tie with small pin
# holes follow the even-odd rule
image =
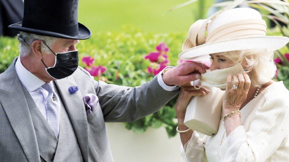
[[[57,94],[54,93],[51,83],[45,83],[42,88],[48,91],[48,96],[46,98],[47,122],[58,138],[60,125],[60,100]]]

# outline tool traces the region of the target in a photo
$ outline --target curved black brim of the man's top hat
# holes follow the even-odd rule
[[[70,36],[70,35],[64,35],[64,34],[56,33],[56,32],[50,32],[50,31],[45,31],[45,30],[38,30],[38,29],[22,27],[22,22],[11,24],[8,27],[11,29],[22,31],[22,32],[45,35],[45,36],[49,36],[49,37],[65,38],[65,39],[84,40],[84,39],[88,39],[91,37],[91,31],[81,23],[78,23],[79,34],[76,36]]]

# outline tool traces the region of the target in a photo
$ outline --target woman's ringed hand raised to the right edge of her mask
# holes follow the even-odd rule
[[[251,80],[246,73],[233,76],[233,81],[237,89],[232,88],[232,75],[227,77],[227,87],[223,98],[223,111],[228,113],[236,109],[240,109],[241,105],[247,98],[247,94],[251,85]]]

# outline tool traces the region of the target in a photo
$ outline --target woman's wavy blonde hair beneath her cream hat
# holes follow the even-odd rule
[[[236,50],[219,53],[219,55],[224,55],[235,63],[245,61],[243,68],[250,76],[252,86],[261,86],[275,76],[277,68],[274,63],[274,51],[272,50]]]

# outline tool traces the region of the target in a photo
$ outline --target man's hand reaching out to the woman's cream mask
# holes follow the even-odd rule
[[[182,86],[200,78],[210,67],[198,62],[182,63],[163,74],[163,82],[168,85]]]

